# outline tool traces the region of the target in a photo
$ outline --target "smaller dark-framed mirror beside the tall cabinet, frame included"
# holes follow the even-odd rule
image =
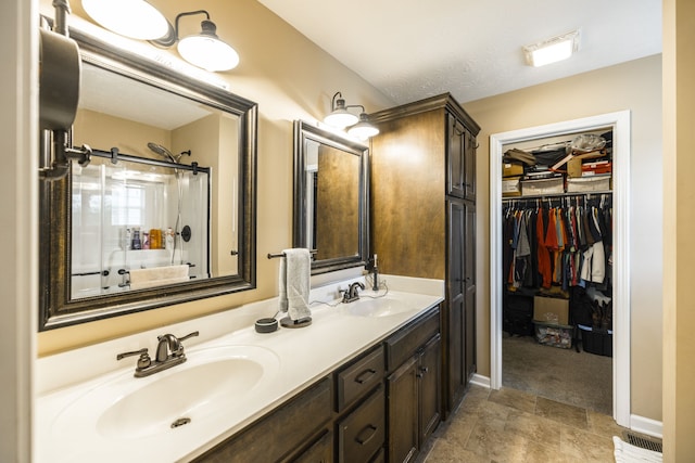
[[[294,121],[293,243],[312,250],[312,274],[367,262],[368,205],[369,149]]]

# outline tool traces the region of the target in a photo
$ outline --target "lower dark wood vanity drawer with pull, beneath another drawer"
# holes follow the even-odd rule
[[[383,386],[338,424],[338,461],[366,462],[386,439]]]

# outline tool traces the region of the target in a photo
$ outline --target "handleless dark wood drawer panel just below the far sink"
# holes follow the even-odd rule
[[[437,306],[422,318],[414,321],[387,339],[388,371],[392,371],[406,361],[418,348],[439,332],[439,306]]]

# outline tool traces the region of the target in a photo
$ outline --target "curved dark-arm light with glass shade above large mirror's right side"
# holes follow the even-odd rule
[[[192,36],[179,38],[178,22],[184,16],[192,16],[195,14],[204,14],[205,20],[201,22],[201,31]],[[239,54],[229,44],[219,40],[217,37],[217,26],[210,21],[210,13],[205,10],[189,11],[176,15],[174,22],[174,30],[169,30],[166,37],[151,40],[160,47],[172,47],[178,42],[177,49],[181,57],[194,66],[202,67],[207,70],[229,70],[239,64]]]

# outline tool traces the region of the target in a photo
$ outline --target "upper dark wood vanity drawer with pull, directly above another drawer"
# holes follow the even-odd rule
[[[381,347],[341,370],[336,375],[338,382],[338,412],[342,412],[345,407],[380,384],[384,370],[383,348]]]

